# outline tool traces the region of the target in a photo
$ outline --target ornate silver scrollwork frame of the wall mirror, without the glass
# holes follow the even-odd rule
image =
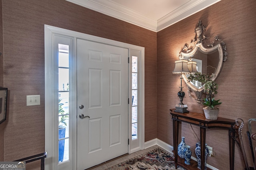
[[[226,52],[226,43],[224,41],[222,41],[222,39],[220,38],[220,35],[216,35],[212,41],[212,43],[207,44],[206,40],[209,39],[210,37],[206,37],[205,35],[205,30],[206,27],[205,25],[202,25],[201,21],[198,21],[198,25],[196,25],[197,27],[195,28],[195,37],[194,39],[191,41],[190,44],[193,44],[192,47],[189,47],[189,45],[186,43],[183,46],[182,51],[180,52],[179,55],[179,59],[184,59],[184,57],[188,57],[191,58],[193,57],[196,52],[198,50],[200,50],[200,52],[204,53],[204,54],[208,54],[208,53],[212,53],[215,50],[218,50],[218,66],[216,67],[216,71],[212,76],[212,80],[216,80],[216,78],[218,77],[218,74],[220,73],[220,70],[222,68],[222,63],[225,62],[227,60],[227,55],[228,53]],[[204,45],[206,45],[206,47],[204,47]],[[202,96],[202,88],[196,88],[187,78],[186,74],[182,74],[182,77],[184,78],[184,81],[186,82],[187,86],[188,86],[188,94],[190,96],[190,98],[192,98],[191,93],[190,93],[190,89],[192,89],[194,92],[196,92],[196,100],[198,103],[201,103],[203,100],[201,98]]]

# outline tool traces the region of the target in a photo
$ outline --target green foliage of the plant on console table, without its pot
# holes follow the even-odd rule
[[[214,82],[212,78],[213,74],[202,74],[201,72],[190,74],[188,80],[196,80],[201,82],[202,85],[202,92],[206,94],[206,98],[204,98],[204,105],[207,106],[207,109],[216,109],[216,105],[222,104],[220,100],[215,100],[214,94],[218,92],[218,84]]]

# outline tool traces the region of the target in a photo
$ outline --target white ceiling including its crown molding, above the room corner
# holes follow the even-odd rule
[[[66,1],[157,32],[220,0]]]

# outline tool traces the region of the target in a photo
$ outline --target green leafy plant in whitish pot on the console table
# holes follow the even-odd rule
[[[218,84],[214,82],[212,78],[213,74],[202,74],[201,72],[197,72],[194,74],[190,74],[188,80],[196,80],[202,83],[202,92],[206,94],[206,98],[204,98],[204,114],[206,119],[216,120],[218,118],[219,109],[215,107],[216,105],[222,104],[220,100],[215,100],[214,95],[218,92]]]

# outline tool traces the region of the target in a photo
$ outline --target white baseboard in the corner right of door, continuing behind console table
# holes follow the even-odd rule
[[[157,139],[157,138],[156,139],[152,139],[151,141],[145,142],[144,143],[144,148],[147,149],[147,148],[152,147],[154,145],[158,145],[162,149],[167,150],[168,152],[172,153],[173,147],[171,145],[169,145],[169,144],[167,144],[167,143]],[[195,157],[193,157],[193,156],[191,156],[191,159],[197,161],[197,159]],[[217,169],[217,168],[215,168],[215,167],[213,167],[213,166],[211,166],[209,164],[207,164],[206,166],[208,168],[212,169],[212,170],[219,170],[219,169]]]

